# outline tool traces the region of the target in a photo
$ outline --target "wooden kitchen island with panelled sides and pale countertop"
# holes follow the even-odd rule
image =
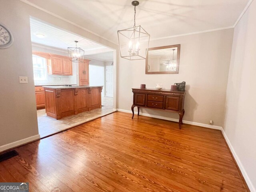
[[[101,108],[103,86],[43,86],[46,115],[54,119]]]

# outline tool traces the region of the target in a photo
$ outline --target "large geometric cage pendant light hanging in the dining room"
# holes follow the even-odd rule
[[[148,34],[142,26],[136,26],[136,6],[140,3],[133,1],[134,6],[134,26],[132,28],[118,30],[118,42],[120,55],[128,60],[146,59],[148,53],[148,44],[150,34]]]

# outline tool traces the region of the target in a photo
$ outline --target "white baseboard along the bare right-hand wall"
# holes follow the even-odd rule
[[[230,148],[230,150],[231,150],[231,152],[232,152],[232,154],[233,154],[233,156],[234,156],[234,158],[235,158],[235,160],[236,160],[236,163],[237,163],[237,165],[238,165],[240,171],[242,172],[242,175],[244,176],[244,180],[246,181],[246,183],[247,183],[247,185],[248,185],[250,191],[251,191],[251,192],[256,192],[256,189],[255,189],[255,187],[253,186],[252,181],[251,181],[250,178],[248,177],[248,174],[246,173],[246,171],[245,171],[245,169],[244,169],[244,166],[243,166],[242,162],[240,161],[240,158],[239,158],[238,155],[236,154],[236,151],[234,150],[234,148],[233,148],[233,146],[232,146],[230,140],[228,139],[228,136],[226,135],[224,129],[222,129],[221,131],[222,131],[222,134],[223,134],[223,136],[224,136],[224,138],[225,138],[225,140],[226,140],[226,142],[227,142],[227,144],[228,144],[228,146],[229,146],[229,148]]]

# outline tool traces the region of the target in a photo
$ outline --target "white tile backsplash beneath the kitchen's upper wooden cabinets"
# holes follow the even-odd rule
[[[66,75],[48,75],[46,81],[35,81],[35,85],[69,85],[76,84],[74,76]]]

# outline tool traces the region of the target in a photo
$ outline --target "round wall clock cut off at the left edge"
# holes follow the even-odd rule
[[[9,48],[12,42],[12,32],[4,24],[0,23],[0,49]]]

